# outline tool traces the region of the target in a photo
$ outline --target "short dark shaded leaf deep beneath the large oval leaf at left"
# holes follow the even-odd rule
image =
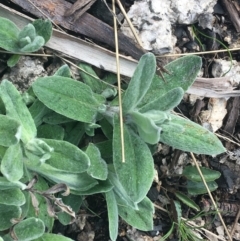
[[[64,129],[59,125],[41,125],[37,128],[37,136],[38,138],[63,140]]]

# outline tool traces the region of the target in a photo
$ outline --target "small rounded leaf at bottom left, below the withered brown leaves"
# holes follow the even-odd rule
[[[31,241],[44,234],[45,226],[41,219],[27,218],[16,224],[13,232],[18,241]]]

